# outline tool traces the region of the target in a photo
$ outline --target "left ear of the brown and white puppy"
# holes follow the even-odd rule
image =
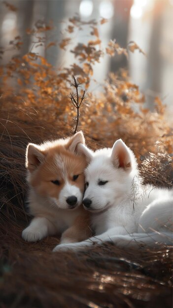
[[[33,172],[44,160],[45,155],[40,147],[34,143],[29,143],[26,151],[26,168]]]

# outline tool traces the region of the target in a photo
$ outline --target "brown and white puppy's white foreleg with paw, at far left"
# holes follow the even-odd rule
[[[42,240],[56,233],[56,227],[45,217],[35,217],[30,225],[22,231],[22,238],[27,242]]]

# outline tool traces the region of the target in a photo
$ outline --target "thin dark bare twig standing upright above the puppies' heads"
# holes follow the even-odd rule
[[[70,93],[69,98],[71,99],[71,102],[74,105],[74,107],[77,109],[76,125],[75,125],[75,129],[74,129],[74,132],[73,132],[73,134],[75,134],[76,131],[77,131],[78,123],[79,123],[79,116],[80,116],[79,108],[80,108],[83,100],[85,99],[85,91],[83,92],[82,95],[79,94],[78,88],[80,87],[80,83],[79,83],[78,79],[76,79],[74,77],[74,75],[72,77],[73,77],[73,81],[71,82],[70,86],[75,88],[76,94]]]

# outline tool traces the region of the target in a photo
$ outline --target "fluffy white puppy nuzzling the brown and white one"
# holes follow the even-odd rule
[[[57,250],[82,250],[111,241],[118,246],[172,245],[173,192],[142,185],[135,155],[119,139],[112,149],[80,151],[90,162],[85,170],[84,208],[92,213],[95,237]]]

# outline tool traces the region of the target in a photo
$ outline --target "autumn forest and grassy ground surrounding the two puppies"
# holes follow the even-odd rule
[[[122,138],[144,183],[172,186],[172,29],[172,0],[0,1],[2,307],[172,306],[170,247],[76,257],[53,255],[57,238],[21,239],[27,143],[69,136],[77,120],[89,147]]]

